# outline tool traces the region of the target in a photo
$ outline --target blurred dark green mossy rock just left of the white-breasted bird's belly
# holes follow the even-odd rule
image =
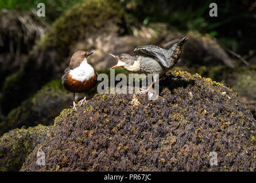
[[[64,89],[60,79],[51,81],[10,111],[0,123],[0,134],[22,126],[50,125],[63,108],[72,105],[72,98],[72,93]]]

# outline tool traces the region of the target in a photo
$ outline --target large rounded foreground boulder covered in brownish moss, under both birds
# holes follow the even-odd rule
[[[199,74],[175,71],[160,97],[97,94],[65,109],[21,171],[253,171],[255,120],[237,94]],[[218,165],[210,165],[210,153]]]

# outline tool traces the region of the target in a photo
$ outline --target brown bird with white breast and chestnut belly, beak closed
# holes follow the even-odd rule
[[[76,110],[75,93],[91,90],[97,84],[97,73],[90,64],[87,57],[93,54],[86,51],[76,51],[71,57],[69,67],[65,69],[61,83],[69,92],[73,92],[73,109]],[[86,102],[86,97],[79,101],[80,106]]]

